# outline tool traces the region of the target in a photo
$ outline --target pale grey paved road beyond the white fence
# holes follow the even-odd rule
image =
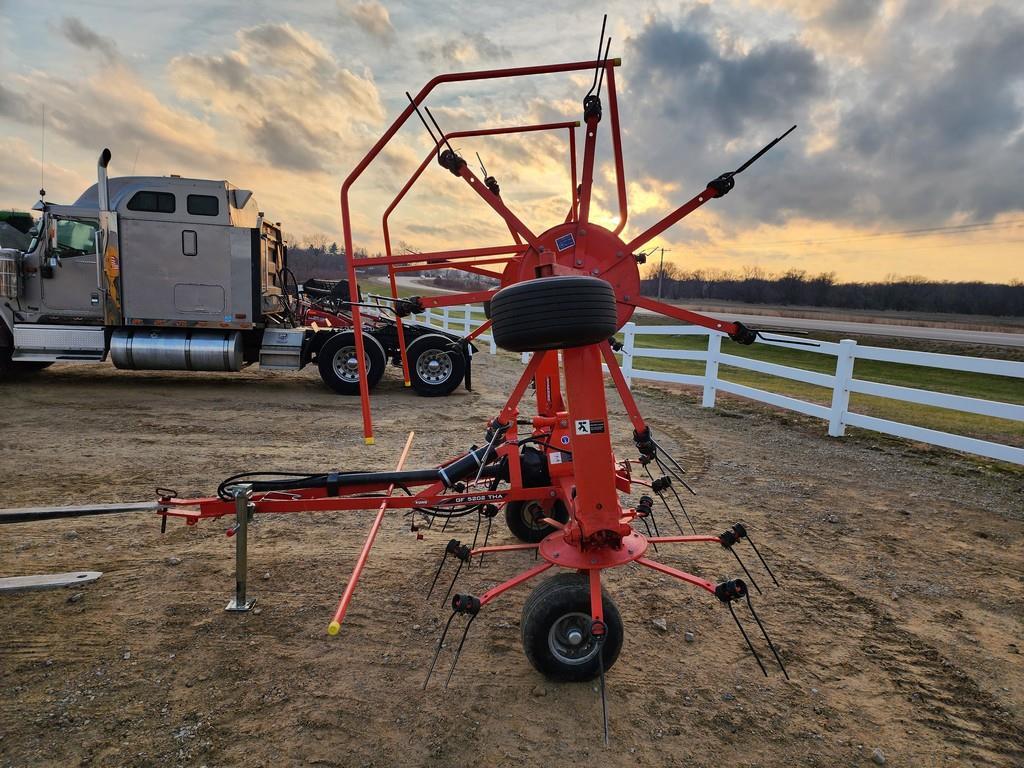
[[[423,288],[416,278],[399,275],[398,284],[407,288]],[[440,288],[431,288],[440,293],[456,293]],[[1024,333],[966,331],[955,328],[932,328],[929,326],[894,326],[885,323],[851,323],[848,321],[827,321],[810,317],[777,317],[767,314],[734,314],[732,312],[702,312],[724,321],[739,321],[751,328],[770,328],[786,331],[822,331],[853,336],[889,336],[905,339],[930,339],[932,341],[953,341],[962,344],[988,344],[1001,347],[1024,347]],[[638,309],[637,314],[654,316],[655,312]],[[662,316],[662,315],[656,315]]]

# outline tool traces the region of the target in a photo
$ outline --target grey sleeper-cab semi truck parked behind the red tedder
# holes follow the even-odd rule
[[[352,327],[344,281],[290,280],[280,224],[249,189],[179,176],[110,178],[72,205],[41,199],[28,245],[0,248],[0,376],[56,361],[150,371],[296,371],[358,394],[401,366],[385,307]],[[24,222],[22,228],[25,229]],[[312,322],[310,322],[312,317]],[[409,384],[423,395],[469,385],[474,348],[430,326],[402,327]]]

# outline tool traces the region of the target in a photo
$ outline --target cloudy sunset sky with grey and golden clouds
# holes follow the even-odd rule
[[[252,188],[299,237],[341,239],[342,179],[440,72],[593,58],[583,0],[0,0],[0,207],[71,202],[103,146],[114,175]],[[600,10],[605,10],[601,8]],[[841,280],[1024,279],[1024,8],[1018,0],[607,3],[639,232],[794,123],[798,130],[657,241],[684,268]],[[589,76],[445,86],[445,130],[581,117]],[[45,108],[45,155],[41,126]],[[607,121],[605,120],[605,123]],[[607,126],[595,216],[616,219]],[[457,142],[541,231],[564,217],[565,131]],[[357,245],[429,147],[418,124],[353,189]],[[392,217],[421,250],[504,244],[432,166]]]

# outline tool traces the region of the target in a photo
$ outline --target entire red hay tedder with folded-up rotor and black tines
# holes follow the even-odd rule
[[[245,591],[245,555],[246,526],[253,514],[376,509],[377,514],[352,574],[330,620],[328,632],[332,635],[336,635],[341,627],[388,510],[406,511],[412,517],[413,529],[421,530],[420,536],[423,536],[424,526],[431,526],[438,519],[443,520],[440,529],[444,530],[458,518],[475,518],[476,534],[472,544],[466,545],[456,539],[449,541],[433,575],[431,592],[445,564],[452,563],[450,567],[455,567],[455,575],[444,597],[452,614],[437,642],[424,686],[429,682],[457,616],[465,617],[465,626],[453,652],[445,686],[452,679],[475,617],[509,590],[557,569],[555,575],[543,580],[525,600],[521,620],[523,651],[530,664],[549,678],[562,681],[600,678],[604,737],[607,741],[604,676],[618,656],[624,629],[618,608],[601,586],[605,569],[637,563],[703,590],[721,601],[730,611],[762,672],[767,675],[761,654],[755,649],[734,610],[734,603],[744,603],[767,648],[785,674],[781,656],[751,602],[748,583],[758,592],[760,589],[740,560],[736,552],[738,546],[745,541],[777,585],[774,573],[741,523],[717,536],[697,535],[680,497],[680,489],[692,493],[682,476],[683,468],[658,442],[640,414],[614,356],[614,336],[636,308],[641,307],[723,333],[742,344],[752,344],[757,340],[762,332],[740,323],[718,321],[642,296],[639,264],[644,261],[642,249],[645,245],[684,216],[728,194],[733,188],[735,176],[793,128],[736,170],[712,179],[696,196],[660,221],[626,240],[622,237],[627,221],[626,183],[614,81],[614,70],[620,66],[620,59],[608,58],[610,40],[605,42],[603,27],[601,43],[595,60],[466,72],[434,78],[415,97],[410,96],[410,104],[341,187],[345,252],[354,254],[349,189],[414,112],[419,114],[427,95],[436,86],[453,82],[594,72],[590,90],[583,99],[585,141],[579,183],[575,180],[572,132],[578,124],[445,134],[429,109],[423,105],[429,122],[422,115],[420,118],[430,131],[435,146],[430,157],[436,157],[443,169],[461,179],[502,217],[513,243],[395,255],[391,253],[388,240],[386,256],[349,260],[351,313],[356,327],[360,325],[360,305],[355,293],[355,275],[359,267],[386,265],[392,280],[396,271],[436,268],[456,268],[500,279],[500,290],[393,299],[397,313],[407,316],[431,306],[489,302],[489,319],[476,333],[489,328],[498,346],[532,353],[504,408],[486,422],[482,446],[474,445],[438,467],[406,469],[413,441],[413,434],[410,434],[393,471],[325,471],[308,475],[244,472],[225,479],[218,487],[217,496],[212,498],[179,499],[172,492],[158,492],[160,499],[153,508],[163,516],[165,524],[168,517],[184,518],[187,523],[194,524],[206,518],[236,516],[236,526],[229,532],[236,535],[238,582],[236,598],[228,606],[234,610],[246,610],[252,602]],[[618,221],[611,229],[591,218],[598,126],[604,116],[601,97],[604,88],[618,200]],[[449,143],[449,138],[457,135],[558,128],[569,129],[571,201],[564,220],[541,232],[512,212],[500,197],[493,177],[484,172],[483,178],[480,178]],[[385,212],[386,237],[388,214],[425,167],[426,162]],[[365,383],[365,351],[360,336],[354,338],[359,381]],[[608,420],[602,367],[607,367],[629,415],[637,452],[635,459],[618,459],[612,451],[612,425]],[[524,416],[521,403],[531,385],[536,391],[536,415]],[[362,418],[365,437],[371,443],[371,412],[365,384]],[[635,489],[642,494],[639,501],[634,506],[624,506],[622,498],[635,493]],[[655,510],[660,508],[675,521],[679,535],[662,535],[655,520]],[[503,511],[509,530],[520,543],[498,546],[488,543],[492,521]],[[679,524],[677,511],[689,522],[689,535]],[[8,517],[7,521],[13,519]],[[426,522],[418,524],[421,519]],[[481,522],[484,521],[486,532],[482,544],[477,546]],[[730,579],[713,583],[649,556],[650,551],[656,552],[658,546],[677,544],[713,544],[727,549],[748,581]],[[513,552],[532,552],[534,564],[480,595],[456,593],[447,603],[465,565],[485,554]]]

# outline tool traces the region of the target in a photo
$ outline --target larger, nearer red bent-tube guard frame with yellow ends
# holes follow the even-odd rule
[[[367,386],[367,364],[365,357],[365,350],[362,344],[362,335],[358,333],[361,328],[361,321],[359,317],[359,308],[356,306],[358,302],[358,288],[356,284],[356,259],[354,258],[354,251],[352,248],[352,221],[351,221],[351,211],[349,209],[348,194],[352,184],[355,180],[362,175],[362,172],[367,167],[380,155],[384,146],[391,140],[398,129],[406,124],[410,116],[416,110],[416,108],[423,102],[427,95],[433,91],[438,85],[443,83],[456,83],[456,82],[470,82],[478,80],[495,80],[500,78],[516,78],[516,77],[527,77],[534,75],[553,75],[557,73],[566,72],[581,72],[584,70],[592,70],[599,67],[604,67],[606,72],[610,72],[612,68],[617,67],[621,60],[615,58],[606,61],[591,60],[591,61],[572,61],[568,63],[561,65],[541,65],[537,67],[518,67],[518,68],[507,68],[501,70],[480,70],[475,72],[461,72],[461,73],[449,73],[446,75],[438,75],[431,79],[423,88],[420,89],[419,93],[413,98],[412,103],[406,106],[394,122],[388,127],[384,134],[377,139],[377,142],[370,148],[370,151],[362,157],[362,160],[352,169],[345,180],[342,182],[341,189],[339,190],[339,203],[341,205],[341,226],[343,231],[345,255],[348,262],[348,279],[349,279],[349,300],[352,302],[352,326],[356,330],[354,334],[355,337],[355,356],[356,362],[359,367],[359,399],[362,411],[362,436],[364,440],[368,445],[374,443],[373,436],[373,417],[370,412],[370,391]],[[609,83],[613,82],[609,78]],[[622,182],[625,184],[625,181]],[[414,261],[416,259],[413,259]],[[365,260],[359,260],[365,261]],[[376,260],[375,260],[376,261]],[[409,260],[407,260],[408,263]],[[380,263],[376,261],[376,263]]]

